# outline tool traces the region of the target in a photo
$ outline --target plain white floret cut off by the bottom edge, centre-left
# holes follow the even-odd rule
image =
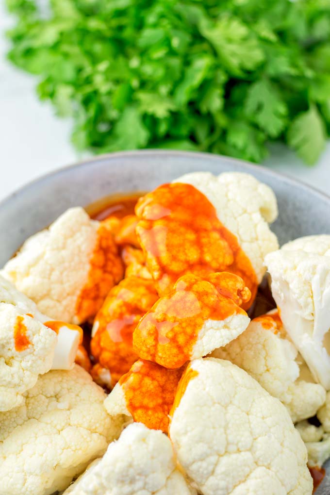
[[[195,495],[169,439],[135,423],[63,495]]]

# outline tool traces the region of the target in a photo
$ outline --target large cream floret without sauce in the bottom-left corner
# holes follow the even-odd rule
[[[40,376],[22,405],[0,413],[0,495],[49,495],[67,488],[120,433],[104,397],[75,365]]]

